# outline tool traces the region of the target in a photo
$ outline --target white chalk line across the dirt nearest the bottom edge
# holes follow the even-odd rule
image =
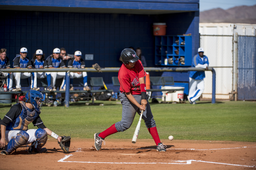
[[[239,164],[226,164],[221,162],[208,162],[203,160],[174,160],[175,163],[170,162],[81,162],[81,161],[64,161],[70,156],[73,156],[72,154],[66,155],[64,158],[58,160],[58,162],[76,162],[76,163],[93,163],[93,164],[191,164],[191,162],[204,162],[204,163],[212,163],[212,164],[223,164],[223,165],[232,165],[232,166],[245,166],[245,167],[255,167],[254,166],[248,166],[248,165],[239,165]],[[180,163],[178,163],[180,162]],[[186,162],[186,163],[182,163]]]

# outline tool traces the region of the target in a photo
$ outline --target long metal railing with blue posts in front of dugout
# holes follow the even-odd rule
[[[102,72],[118,72],[118,68],[107,67],[101,68]],[[208,70],[195,67],[145,67],[146,72],[188,72],[188,71],[211,71],[212,72],[212,104],[215,104],[215,89],[216,89],[216,73],[214,68],[209,67]],[[44,69],[28,69],[28,68],[6,68],[2,69],[3,72],[66,72],[66,87],[70,86],[70,72],[98,72],[95,68],[44,68]],[[69,88],[65,92],[65,106],[69,107]]]

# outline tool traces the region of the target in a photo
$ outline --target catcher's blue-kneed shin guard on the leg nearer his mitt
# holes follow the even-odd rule
[[[47,149],[42,149],[42,147],[46,144],[48,136],[47,132],[44,129],[37,129],[35,132],[36,141],[31,143],[31,146],[28,149],[28,152],[32,153],[34,152],[46,152]],[[46,150],[46,151],[44,151]]]

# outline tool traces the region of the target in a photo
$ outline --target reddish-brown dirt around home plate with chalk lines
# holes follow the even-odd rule
[[[72,139],[64,154],[55,139],[47,153],[28,154],[21,147],[0,155],[0,169],[256,169],[256,143],[231,141],[162,140],[167,152],[157,152],[152,139],[106,139],[102,150],[92,148],[93,139]]]

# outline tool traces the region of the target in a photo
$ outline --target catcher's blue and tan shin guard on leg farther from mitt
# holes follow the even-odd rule
[[[26,131],[20,131],[15,137],[12,137],[12,139],[9,141],[6,151],[8,152],[8,154],[12,153],[12,151],[14,151],[15,149],[21,147],[22,145],[25,145],[28,139],[28,133],[26,133]]]

